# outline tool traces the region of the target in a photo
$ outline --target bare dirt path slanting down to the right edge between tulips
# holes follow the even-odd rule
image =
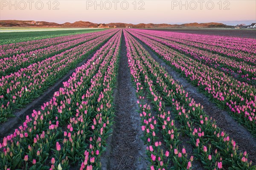
[[[177,81],[180,85],[183,85],[184,90],[189,93],[189,97],[195,99],[195,102],[201,103],[204,106],[204,111],[208,116],[212,116],[216,120],[216,124],[222,130],[226,131],[230,137],[232,137],[239,145],[239,150],[247,151],[249,153],[249,161],[256,165],[256,139],[248,132],[244,127],[239,125],[228,113],[215,105],[209,100],[207,96],[198,91],[195,86],[192,86],[185,78],[181,77],[180,74],[173,70],[167,65],[162,59],[160,59],[154,51],[151,50],[142,41],[134,37],[141,45],[148,51],[148,53],[160,64],[166,71]]]

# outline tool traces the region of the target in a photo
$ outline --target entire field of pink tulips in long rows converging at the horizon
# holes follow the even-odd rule
[[[0,170],[256,170],[256,39],[102,29],[0,45],[0,68],[2,129],[61,81],[0,134]],[[133,99],[116,101],[121,81]],[[118,122],[127,101],[137,126]],[[114,144],[127,126],[143,153]]]

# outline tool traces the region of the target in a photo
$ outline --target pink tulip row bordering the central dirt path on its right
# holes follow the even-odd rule
[[[144,132],[144,141],[147,144],[147,154],[149,156],[149,165],[151,170],[167,169],[191,169],[191,161],[187,159],[186,149],[181,147],[179,141],[179,132],[175,127],[174,120],[170,119],[170,112],[166,112],[162,98],[157,95],[157,90],[152,84],[152,80],[145,76],[146,68],[142,64],[147,62],[143,57],[143,51],[138,47],[134,40],[125,32],[125,41],[127,46],[128,65],[136,83],[137,95],[140,101],[140,116],[142,118],[142,130]],[[137,51],[139,51],[137,53]],[[141,53],[142,52],[142,53]],[[142,62],[143,61],[143,62]],[[140,71],[143,71],[145,84],[140,78]],[[151,99],[156,113],[151,112],[150,105],[144,100],[144,91]],[[145,103],[144,103],[145,102]],[[144,104],[143,104],[144,103]],[[157,119],[155,119],[157,118]],[[164,141],[158,141],[158,133],[162,134]],[[162,145],[165,145],[164,147]]]

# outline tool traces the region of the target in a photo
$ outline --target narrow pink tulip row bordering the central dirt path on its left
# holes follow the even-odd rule
[[[84,159],[81,163],[80,170],[101,169],[101,156],[105,152],[106,140],[111,135],[111,125],[113,124],[113,89],[116,85],[116,75],[118,71],[119,51],[121,42],[121,31],[116,42],[113,43],[111,51],[106,56],[102,65],[107,66],[107,70],[99,71],[95,75],[95,82],[86,92],[86,96],[95,96],[95,100],[87,100],[88,108],[93,109],[95,118],[91,126],[91,137],[89,140],[89,147],[84,152]],[[106,62],[109,60],[108,62]],[[101,81],[100,81],[101,80]],[[96,92],[96,93],[95,93]]]

